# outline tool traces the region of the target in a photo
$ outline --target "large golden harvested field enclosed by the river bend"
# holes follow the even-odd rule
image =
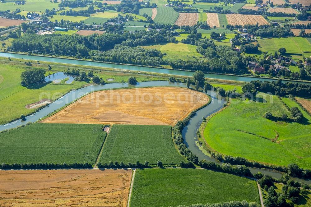
[[[84,96],[42,122],[173,126],[207,102],[207,95],[177,87],[105,90]]]

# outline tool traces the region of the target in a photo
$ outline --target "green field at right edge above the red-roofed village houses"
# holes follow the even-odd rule
[[[309,56],[309,53],[303,53],[302,51],[310,51],[311,44],[310,42],[303,37],[287,37],[287,38],[271,38],[271,39],[259,39],[258,43],[260,44],[259,50],[262,52],[268,51],[268,53],[274,54],[275,48],[284,47],[286,49],[285,56],[288,57],[297,57],[295,54],[304,54]],[[289,54],[294,53],[294,54]],[[302,56],[298,56],[301,58]]]

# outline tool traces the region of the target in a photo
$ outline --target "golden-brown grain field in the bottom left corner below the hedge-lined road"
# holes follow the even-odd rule
[[[0,171],[0,206],[127,206],[132,170]]]

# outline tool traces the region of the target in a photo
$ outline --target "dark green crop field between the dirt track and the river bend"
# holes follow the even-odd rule
[[[176,150],[170,126],[113,125],[104,143],[101,163],[118,161],[179,164],[184,158]]]

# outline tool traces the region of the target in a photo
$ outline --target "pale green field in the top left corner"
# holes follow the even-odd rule
[[[35,0],[35,1],[26,1],[24,5],[17,5],[14,2],[0,3],[0,11],[15,11],[20,9],[21,11],[36,11],[44,12],[45,9],[57,9],[58,3],[52,3],[49,0]]]

